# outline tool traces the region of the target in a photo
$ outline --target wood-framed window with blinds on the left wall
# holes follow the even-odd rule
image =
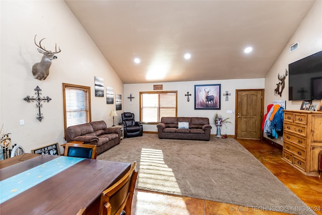
[[[91,121],[91,88],[62,83],[64,128]]]

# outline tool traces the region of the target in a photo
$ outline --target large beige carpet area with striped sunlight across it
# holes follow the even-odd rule
[[[233,138],[210,141],[159,139],[157,134],[121,140],[98,160],[133,163],[137,189],[293,214],[306,204]]]

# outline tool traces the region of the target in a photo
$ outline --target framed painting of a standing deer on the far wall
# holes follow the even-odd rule
[[[195,110],[220,110],[220,84],[195,85]]]

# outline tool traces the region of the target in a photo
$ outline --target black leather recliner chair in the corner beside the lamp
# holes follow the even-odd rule
[[[142,136],[143,125],[139,121],[135,121],[134,113],[124,112],[122,115],[122,125],[124,125],[124,138]]]

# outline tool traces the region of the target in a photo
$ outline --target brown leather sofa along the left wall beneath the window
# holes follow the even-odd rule
[[[67,142],[83,141],[96,145],[97,154],[100,154],[120,143],[120,132],[120,127],[108,128],[102,120],[69,126],[65,129],[65,138]]]

